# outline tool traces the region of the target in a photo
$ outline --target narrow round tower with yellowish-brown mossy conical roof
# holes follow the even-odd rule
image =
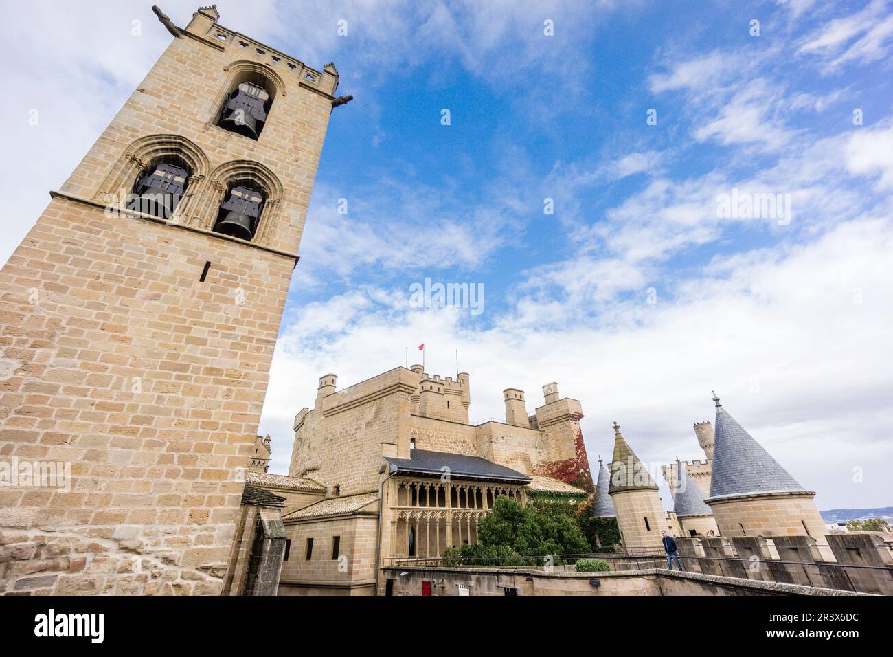
[[[627,552],[663,550],[661,528],[665,515],[657,484],[623,438],[616,422],[613,429],[614,451],[608,493],[613,501],[623,547]]]

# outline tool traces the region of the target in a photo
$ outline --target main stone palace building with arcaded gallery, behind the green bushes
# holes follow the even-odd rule
[[[322,376],[313,409],[295,417],[277,494],[284,484],[321,493],[294,510],[283,501],[280,594],[371,594],[383,565],[477,544],[478,522],[499,495],[580,502],[594,490],[580,401],[562,398],[557,383],[544,386],[530,416],[524,392],[508,388],[505,422],[472,425],[464,373],[397,367],[336,392],[337,381]],[[248,482],[275,492],[259,477]]]

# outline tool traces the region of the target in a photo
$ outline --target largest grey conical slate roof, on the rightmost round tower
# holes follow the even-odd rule
[[[714,463],[708,500],[747,493],[790,493],[805,490],[722,408],[715,394],[714,401]]]

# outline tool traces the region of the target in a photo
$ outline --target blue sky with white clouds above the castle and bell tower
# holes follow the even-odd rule
[[[593,461],[615,419],[648,462],[702,456],[691,423],[715,389],[820,508],[893,504],[890,3],[244,6],[219,2],[221,24],[334,60],[355,96],[332,115],[271,372],[275,471],[320,375],[357,383],[425,342],[434,373],[459,351],[474,418],[501,416],[509,386],[532,412],[557,381]],[[194,9],[163,4],[181,25]],[[17,164],[25,193],[0,190],[0,259],[169,39],[139,3],[11,11],[35,27],[4,36],[35,53],[13,111],[42,118],[4,130],[39,156]],[[722,218],[732,189],[791,212]],[[425,278],[482,284],[483,312],[411,307]]]

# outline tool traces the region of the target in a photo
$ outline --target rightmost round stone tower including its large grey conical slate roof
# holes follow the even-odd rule
[[[806,491],[731,417],[714,394],[714,473],[706,503],[723,536],[809,535],[825,524]]]

